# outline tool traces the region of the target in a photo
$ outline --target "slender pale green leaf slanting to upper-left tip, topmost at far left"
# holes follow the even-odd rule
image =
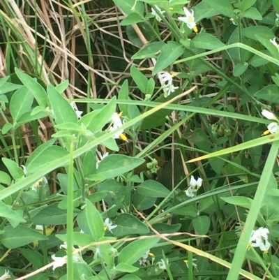
[[[31,91],[38,104],[43,108],[46,108],[47,93],[45,92],[45,89],[36,80],[31,78],[29,75],[22,73],[22,71],[20,71],[18,68],[15,68],[15,73],[21,80],[22,84],[24,84],[24,86]]]

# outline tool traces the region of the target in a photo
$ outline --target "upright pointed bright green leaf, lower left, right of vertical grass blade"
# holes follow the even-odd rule
[[[98,241],[105,235],[104,222],[102,216],[100,216],[100,212],[98,212],[93,203],[88,199],[86,199],[85,213],[93,240]]]

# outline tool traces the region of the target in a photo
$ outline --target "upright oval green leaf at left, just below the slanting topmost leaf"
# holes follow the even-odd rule
[[[14,123],[30,110],[33,99],[33,95],[27,87],[20,87],[15,91],[10,99],[10,115],[12,115]]]

